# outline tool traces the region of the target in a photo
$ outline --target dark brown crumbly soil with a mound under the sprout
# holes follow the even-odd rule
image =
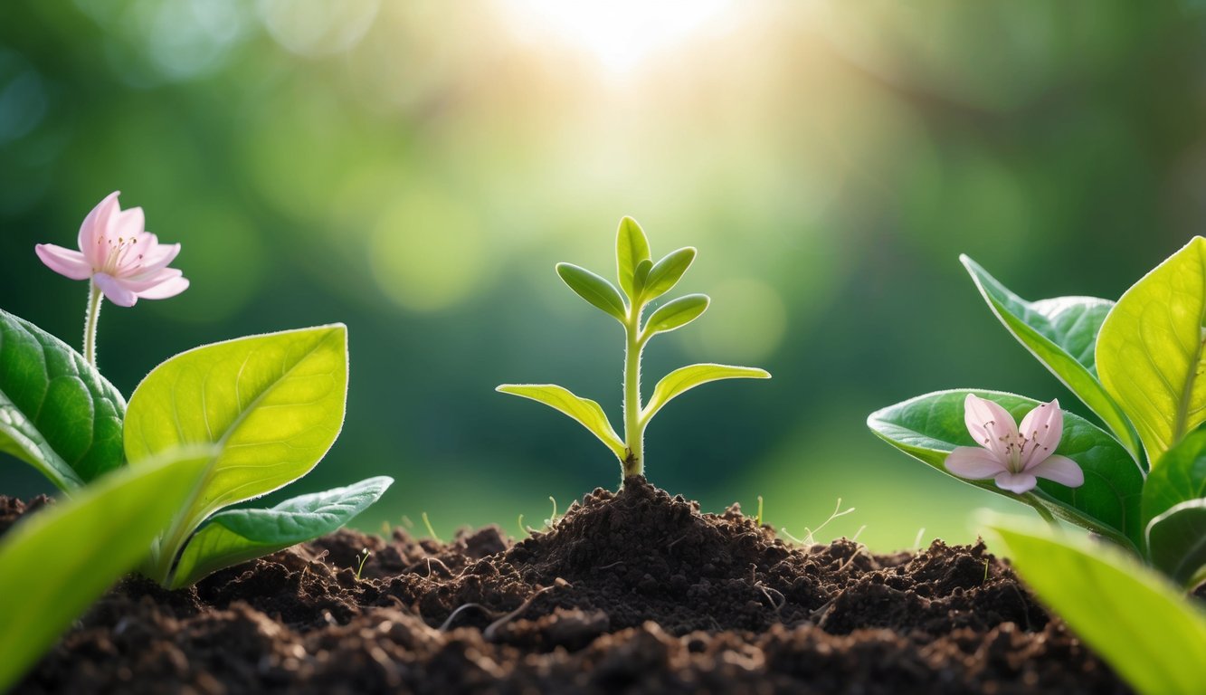
[[[0,497],[0,532],[42,503]],[[631,478],[520,542],[344,530],[187,590],[127,578],[17,691],[1130,690],[983,544],[788,544]]]

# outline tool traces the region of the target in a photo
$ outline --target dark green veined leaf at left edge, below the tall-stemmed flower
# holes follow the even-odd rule
[[[0,451],[71,492],[122,465],[125,399],[65,343],[0,310]]]

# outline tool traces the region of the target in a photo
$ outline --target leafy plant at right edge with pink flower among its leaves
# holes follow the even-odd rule
[[[1194,238],[1117,303],[1026,302],[962,262],[1009,333],[1105,428],[1058,401],[956,390],[873,413],[872,431],[1049,521],[1084,526],[1182,585],[1206,578],[1206,239]]]

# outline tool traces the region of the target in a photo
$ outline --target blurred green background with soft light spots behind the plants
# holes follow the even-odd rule
[[[0,5],[0,306],[71,344],[71,245],[105,194],[180,241],[182,296],[101,314],[127,396],[201,343],[351,331],[343,436],[289,493],[397,484],[357,525],[539,526],[619,466],[493,392],[562,384],[619,424],[621,331],[552,265],[614,274],[632,215],[695,245],[713,297],[654,341],[769,369],[654,421],[654,483],[796,536],[968,541],[1011,508],[876,439],[866,415],[980,386],[1083,408],[988,313],[1117,298],[1206,214],[1206,27],[1190,2],[78,0]],[[1073,404],[1076,403],[1076,404]],[[0,461],[0,491],[49,491]],[[279,500],[280,493],[271,500]],[[1024,509],[1018,508],[1023,512]],[[416,530],[422,533],[422,530]]]

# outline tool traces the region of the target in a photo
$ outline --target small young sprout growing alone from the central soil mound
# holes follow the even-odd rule
[[[652,262],[649,239],[631,217],[620,221],[616,234],[616,270],[620,288],[608,280],[572,263],[558,263],[557,275],[579,297],[624,326],[624,439],[616,434],[603,408],[555,384],[503,384],[497,389],[538,401],[573,417],[615,454],[624,477],[642,475],[645,469],[645,427],[671,399],[708,381],[720,379],[769,379],[765,369],[727,364],[690,364],[662,378],[654,386],[648,403],[640,396],[640,357],[649,340],[699,317],[708,308],[707,294],[686,294],[666,302],[644,316],[651,302],[669,292],[695,261],[695,249],[687,246]],[[622,290],[622,294],[621,294]]]

